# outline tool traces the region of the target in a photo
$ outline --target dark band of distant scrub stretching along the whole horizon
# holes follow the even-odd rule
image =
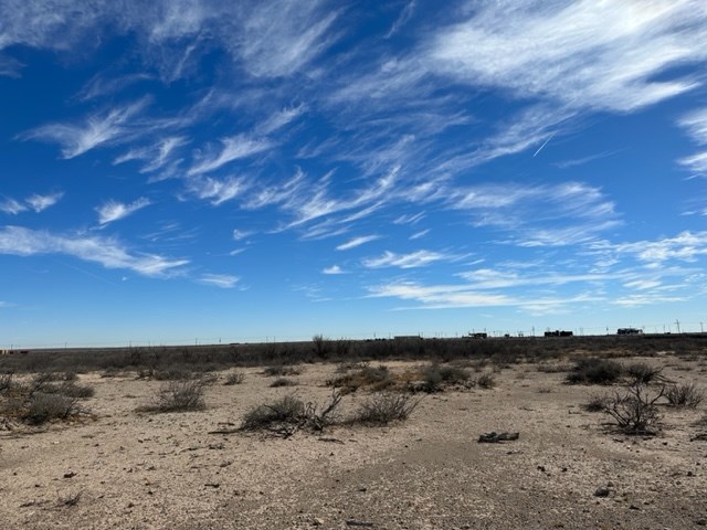
[[[229,367],[297,364],[303,362],[356,362],[384,360],[489,359],[503,363],[542,360],[569,354],[600,357],[652,356],[665,351],[707,356],[707,333],[523,337],[494,339],[328,340],[213,346],[44,349],[25,354],[0,356],[0,372],[44,370],[163,370],[197,371]]]

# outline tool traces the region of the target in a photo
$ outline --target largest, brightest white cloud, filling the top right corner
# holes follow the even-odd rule
[[[474,86],[631,112],[697,86],[692,78],[655,77],[705,59],[707,7],[700,0],[520,0],[481,4],[471,19],[440,31],[428,61]]]

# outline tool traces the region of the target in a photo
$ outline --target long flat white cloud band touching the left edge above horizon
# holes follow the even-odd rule
[[[188,259],[169,259],[156,254],[133,254],[114,239],[86,235],[57,235],[22,226],[0,229],[0,254],[34,256],[64,254],[106,268],[125,268],[144,276],[180,274]]]

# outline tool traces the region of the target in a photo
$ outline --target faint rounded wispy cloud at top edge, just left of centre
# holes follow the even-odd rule
[[[253,2],[239,21],[241,34],[231,47],[251,75],[288,76],[334,43],[336,35],[327,33],[337,17],[325,11],[321,0]]]

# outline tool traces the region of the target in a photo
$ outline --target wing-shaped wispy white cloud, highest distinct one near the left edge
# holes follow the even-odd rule
[[[78,125],[43,125],[20,135],[18,138],[56,142],[61,147],[62,157],[71,159],[98,146],[125,139],[131,132],[130,119],[141,112],[147,103],[147,99],[144,98],[137,103],[114,108],[103,115],[89,116]]]

